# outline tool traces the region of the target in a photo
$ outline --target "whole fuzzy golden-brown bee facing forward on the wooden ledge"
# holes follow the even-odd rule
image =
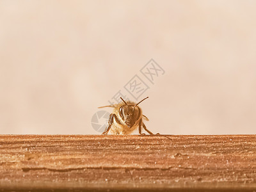
[[[120,97],[122,99],[122,97]],[[148,99],[146,97],[145,99]],[[135,129],[139,128],[140,134],[141,129],[145,129],[149,134],[153,134],[152,132],[148,131],[146,125],[143,123],[143,120],[148,120],[147,116],[142,114],[141,108],[138,106],[141,102],[135,103],[131,101],[125,102],[122,99],[122,102],[118,104],[113,104],[110,106],[102,106],[99,108],[114,108],[113,113],[109,115],[108,126],[106,130],[102,132],[102,134],[108,134],[110,131],[112,134],[131,134]]]

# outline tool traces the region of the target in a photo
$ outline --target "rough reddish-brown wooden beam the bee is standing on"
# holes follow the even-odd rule
[[[0,189],[256,191],[256,136],[0,135]]]

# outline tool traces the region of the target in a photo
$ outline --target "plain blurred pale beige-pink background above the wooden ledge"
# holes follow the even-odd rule
[[[0,0],[0,134],[100,134],[92,119],[106,118],[92,117],[118,92],[149,97],[140,107],[152,132],[256,134],[255,8]],[[154,82],[141,73],[151,59],[163,69]],[[124,88],[134,78],[138,99]]]

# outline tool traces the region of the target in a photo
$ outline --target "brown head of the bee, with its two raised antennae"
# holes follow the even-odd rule
[[[122,97],[120,98],[122,99]],[[145,99],[147,98],[148,97],[146,97]],[[119,108],[119,115],[121,116],[125,124],[129,128],[131,128],[141,116],[141,109],[138,107],[138,104],[140,104],[143,100],[141,100],[135,105],[128,105],[124,99],[122,100],[124,102],[124,105]]]

